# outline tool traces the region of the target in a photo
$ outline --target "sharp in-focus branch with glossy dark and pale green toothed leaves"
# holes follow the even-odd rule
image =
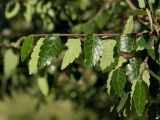
[[[50,34],[40,38],[36,44],[34,42],[36,36],[29,35],[25,37],[21,47],[21,60],[23,62],[29,58],[29,74],[36,74],[49,67],[60,55],[63,56],[60,65],[62,71],[79,59],[84,61],[85,67],[98,66],[101,72],[108,73],[107,94],[119,99],[114,105],[117,112],[135,110],[141,116],[146,112],[146,105],[150,102],[148,91],[151,76],[160,82],[159,76],[148,64],[151,60],[160,65],[160,27],[153,11],[148,8],[153,3],[153,0],[147,3],[145,0],[138,0],[141,9],[135,10],[135,14],[128,17],[121,34],[107,36],[91,33],[83,34],[83,38],[82,34],[77,34],[76,37],[74,35],[68,37],[66,43],[62,42],[63,34]],[[19,10],[19,4],[15,4],[14,14]],[[14,16],[8,12],[9,6],[10,4],[6,8],[8,18]],[[147,18],[148,29],[134,33],[134,23],[139,16]],[[145,54],[142,56],[143,52]],[[45,79],[40,77],[38,81],[42,93],[46,96],[48,86],[44,82]]]

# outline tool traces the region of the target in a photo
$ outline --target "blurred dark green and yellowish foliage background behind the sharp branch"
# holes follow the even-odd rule
[[[0,120],[124,119],[123,113],[110,112],[118,98],[107,95],[108,73],[99,66],[86,68],[81,56],[61,71],[62,52],[51,66],[30,76],[27,60],[20,62],[19,49],[13,46],[34,33],[121,33],[132,13],[122,0],[1,0]],[[134,32],[142,29],[136,21]],[[151,89],[158,96],[160,86],[155,86]],[[151,109],[160,109],[158,102]],[[134,113],[130,116],[136,119]]]

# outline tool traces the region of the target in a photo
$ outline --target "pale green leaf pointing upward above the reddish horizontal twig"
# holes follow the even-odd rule
[[[125,29],[123,31],[123,34],[130,34],[132,33],[134,28],[134,21],[133,21],[133,16],[130,16],[127,20],[127,23],[125,25]]]

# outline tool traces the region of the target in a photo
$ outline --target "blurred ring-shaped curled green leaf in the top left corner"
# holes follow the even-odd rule
[[[5,16],[7,19],[13,18],[18,14],[20,4],[16,0],[8,1],[5,9]]]

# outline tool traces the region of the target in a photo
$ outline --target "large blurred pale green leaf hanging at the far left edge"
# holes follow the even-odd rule
[[[8,79],[16,70],[16,67],[19,62],[19,56],[14,54],[12,49],[8,49],[5,51],[3,67],[4,67],[4,77]]]

